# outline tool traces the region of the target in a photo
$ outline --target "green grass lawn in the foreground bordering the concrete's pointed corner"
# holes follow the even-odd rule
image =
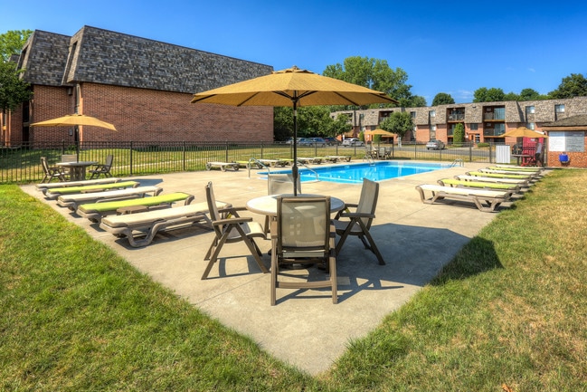
[[[0,186],[0,390],[587,390],[586,191],[545,177],[310,377]]]

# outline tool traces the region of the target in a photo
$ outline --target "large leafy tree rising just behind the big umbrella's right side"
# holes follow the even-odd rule
[[[412,99],[412,86],[406,84],[408,74],[401,68],[393,70],[387,61],[368,57],[347,57],[343,64],[327,65],[324,76],[348,81],[369,89],[382,91],[395,100]],[[393,105],[384,105],[390,107]],[[374,107],[382,107],[374,104]]]

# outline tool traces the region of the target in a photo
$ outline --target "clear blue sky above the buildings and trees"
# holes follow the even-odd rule
[[[571,73],[587,74],[584,0],[1,0],[0,10],[0,33],[72,35],[90,25],[275,70],[386,60],[429,105],[438,92],[470,102],[480,87],[545,94]]]

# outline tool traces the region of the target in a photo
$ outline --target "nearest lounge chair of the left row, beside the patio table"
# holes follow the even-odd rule
[[[218,208],[231,205],[216,202]],[[137,214],[105,216],[99,227],[118,237],[126,237],[132,247],[147,246],[153,242],[156,234],[162,231],[185,228],[192,225],[204,225],[212,229],[208,214],[208,203],[195,203],[152,210]]]

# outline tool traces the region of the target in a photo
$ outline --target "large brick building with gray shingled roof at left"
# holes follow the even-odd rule
[[[18,68],[33,100],[4,120],[4,146],[73,142],[71,128],[29,124],[74,112],[118,129],[84,127],[81,143],[273,140],[270,107],[190,103],[195,92],[266,75],[269,65],[84,26],[73,36],[34,31]]]

